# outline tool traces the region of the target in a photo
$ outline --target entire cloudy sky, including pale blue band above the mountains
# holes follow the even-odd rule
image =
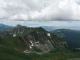
[[[0,0],[0,23],[79,28],[80,0]]]

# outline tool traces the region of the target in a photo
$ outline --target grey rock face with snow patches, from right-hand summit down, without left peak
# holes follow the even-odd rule
[[[26,34],[24,36],[20,36],[20,39],[24,41],[27,50],[47,52],[53,48],[66,47],[66,42],[62,38],[57,37],[54,33],[47,32],[41,27],[28,29],[30,30],[25,32]]]

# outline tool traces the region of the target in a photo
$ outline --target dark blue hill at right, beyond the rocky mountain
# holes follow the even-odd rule
[[[57,29],[53,31],[58,37],[63,37],[70,48],[80,48],[80,31],[70,29]]]

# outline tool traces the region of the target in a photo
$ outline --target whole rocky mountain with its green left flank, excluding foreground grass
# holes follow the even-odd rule
[[[5,38],[4,38],[5,36]],[[24,53],[49,52],[54,48],[65,48],[64,39],[43,28],[30,28],[18,25],[17,27],[1,32],[0,44]]]

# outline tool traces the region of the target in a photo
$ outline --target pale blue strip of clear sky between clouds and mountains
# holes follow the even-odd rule
[[[80,21],[2,21],[0,24],[16,26],[18,24],[28,27],[53,27],[55,29],[80,30]]]

